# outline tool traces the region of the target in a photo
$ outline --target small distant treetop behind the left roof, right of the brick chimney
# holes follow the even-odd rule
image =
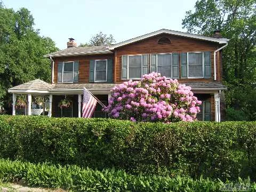
[[[100,32],[99,34],[96,34],[90,39],[89,43],[80,44],[79,46],[99,46],[99,45],[111,45],[115,43],[115,39],[113,35],[107,36],[106,34],[103,34]]]

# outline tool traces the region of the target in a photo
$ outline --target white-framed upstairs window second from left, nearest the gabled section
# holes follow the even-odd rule
[[[107,59],[95,60],[95,79],[94,82],[107,81]]]

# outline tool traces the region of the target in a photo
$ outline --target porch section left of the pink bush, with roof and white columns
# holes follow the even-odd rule
[[[33,97],[41,95],[41,97],[48,98],[43,106],[48,106],[46,114],[49,117],[81,117],[83,87],[86,87],[104,105],[107,105],[110,90],[114,86],[115,84],[49,84],[40,79],[35,79],[12,87],[8,91],[13,95],[12,115],[17,115],[17,97],[22,94],[26,95],[26,106],[21,112],[22,115],[35,115],[32,107],[34,105]],[[70,105],[67,108],[60,108],[59,102],[65,98],[70,101]],[[97,103],[93,117],[107,117],[99,103]]]

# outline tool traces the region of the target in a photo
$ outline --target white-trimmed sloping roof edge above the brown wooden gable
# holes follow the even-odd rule
[[[219,44],[228,42],[228,39],[226,39],[226,38],[207,37],[207,36],[203,36],[203,35],[189,34],[189,33],[184,33],[184,32],[180,32],[180,31],[169,30],[169,29],[160,29],[160,30],[154,31],[154,32],[146,34],[146,35],[135,37],[135,38],[129,39],[127,41],[117,43],[115,45],[111,45],[111,46],[109,46],[109,50],[114,50],[117,47],[131,44],[134,42],[138,42],[138,41],[141,41],[142,39],[146,39],[146,38],[153,37],[153,36],[160,35],[160,34],[178,35],[178,36],[183,36],[183,37],[201,39],[201,40],[209,41],[209,42],[215,42],[215,43],[219,43]]]

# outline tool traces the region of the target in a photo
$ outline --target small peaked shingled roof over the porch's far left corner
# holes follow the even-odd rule
[[[37,90],[37,91],[47,91],[52,89],[52,85],[42,81],[41,79],[35,79],[33,81],[23,83],[18,86],[11,87],[10,92],[14,90]]]

